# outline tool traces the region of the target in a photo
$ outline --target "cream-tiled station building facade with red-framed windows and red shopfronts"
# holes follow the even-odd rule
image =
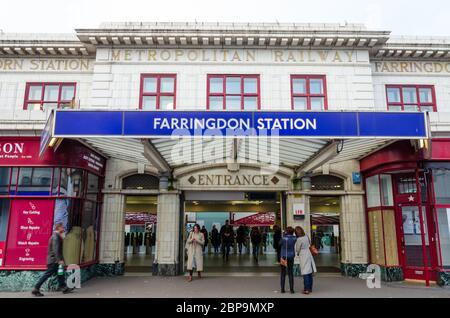
[[[274,213],[274,224],[309,235],[320,224],[313,216],[328,216],[325,224],[339,226],[343,274],[377,264],[387,281],[446,285],[449,99],[448,40],[362,25],[105,23],[68,35],[2,33],[1,289],[26,289],[45,268],[55,222],[66,224],[65,257],[83,279],[123,274],[131,239],[153,241],[149,271],[180,275],[187,214],[214,202],[230,213]],[[53,109],[425,112],[429,138],[280,139],[277,169],[262,176],[272,162],[236,139],[209,155],[217,144],[177,149],[142,138],[61,138],[42,150]],[[244,201],[260,207],[246,210]],[[328,213],[333,205],[339,213]],[[127,217],[142,209],[154,216],[138,222],[151,235],[127,236],[135,224]]]

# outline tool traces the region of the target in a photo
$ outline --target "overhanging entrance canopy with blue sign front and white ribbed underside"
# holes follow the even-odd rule
[[[56,110],[42,145],[78,139],[107,157],[150,162],[161,172],[189,164],[271,160],[312,170],[428,135],[424,113]]]

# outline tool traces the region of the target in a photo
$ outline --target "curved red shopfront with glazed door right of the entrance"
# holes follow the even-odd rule
[[[398,141],[361,160],[369,253],[388,280],[450,280],[450,139]]]

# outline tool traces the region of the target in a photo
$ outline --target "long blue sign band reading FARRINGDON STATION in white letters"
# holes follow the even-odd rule
[[[207,135],[299,138],[428,137],[424,113],[56,110],[55,138]]]

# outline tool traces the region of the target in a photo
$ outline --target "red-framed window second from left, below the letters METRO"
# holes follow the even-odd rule
[[[176,109],[177,76],[175,74],[143,74],[141,76],[142,110]]]

